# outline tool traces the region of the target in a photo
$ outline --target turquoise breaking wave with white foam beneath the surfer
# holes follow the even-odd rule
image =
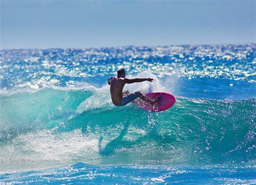
[[[253,165],[255,98],[179,97],[155,114],[133,104],[115,107],[103,92],[2,95],[0,166]]]

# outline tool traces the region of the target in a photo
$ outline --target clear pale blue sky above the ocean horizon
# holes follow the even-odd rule
[[[0,0],[1,49],[255,43],[255,1]]]

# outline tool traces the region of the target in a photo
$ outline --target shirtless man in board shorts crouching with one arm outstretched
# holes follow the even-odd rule
[[[134,93],[130,93],[128,90],[123,92],[123,88],[125,84],[138,83],[143,81],[153,81],[153,78],[134,78],[128,79],[125,78],[125,70],[122,68],[117,71],[117,77],[111,77],[107,80],[107,84],[110,85],[110,93],[111,99],[114,105],[116,106],[124,106],[129,102],[133,101],[136,98],[141,98],[146,102],[149,102],[151,105],[157,105],[160,100],[160,97],[156,100],[151,100],[147,98],[142,92],[137,91]]]

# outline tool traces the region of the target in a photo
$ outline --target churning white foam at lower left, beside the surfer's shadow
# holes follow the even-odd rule
[[[57,127],[56,127],[57,128]],[[80,129],[55,134],[56,128],[18,135],[0,150],[0,172],[50,168],[72,161],[97,159],[98,136]],[[17,167],[12,168],[14,166]],[[21,169],[21,170],[22,170]]]

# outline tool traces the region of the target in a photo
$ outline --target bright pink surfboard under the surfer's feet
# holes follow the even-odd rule
[[[164,93],[164,92],[148,93],[148,94],[145,94],[145,96],[149,97],[151,100],[155,100],[158,97],[161,97],[157,106],[152,106],[149,102],[145,102],[140,98],[137,98],[136,100],[134,100],[135,105],[151,112],[165,111],[166,109],[172,107],[176,102],[176,99],[172,94]]]

